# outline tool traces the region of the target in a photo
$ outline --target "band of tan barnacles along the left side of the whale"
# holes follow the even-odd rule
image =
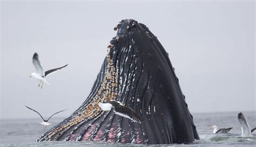
[[[59,134],[55,137],[55,139],[57,139],[65,130],[69,129],[73,125],[98,116],[99,113],[102,112],[98,106],[98,103],[113,100],[114,97],[116,97],[118,74],[116,72],[116,68],[113,65],[113,61],[111,60],[110,53],[107,54],[106,61],[107,66],[105,69],[104,79],[97,91],[97,94],[93,97],[91,102],[87,104],[85,108],[80,110],[80,112],[75,115],[68,123],[60,125],[58,128],[53,130],[51,134],[48,135],[48,139],[59,132]]]

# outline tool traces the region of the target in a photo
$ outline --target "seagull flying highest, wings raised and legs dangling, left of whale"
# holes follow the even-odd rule
[[[33,65],[35,66],[36,68],[36,73],[31,73],[29,78],[31,78],[31,76],[33,76],[34,78],[36,78],[37,80],[39,80],[39,84],[38,84],[38,87],[40,87],[40,84],[42,82],[42,85],[41,85],[41,89],[43,88],[43,84],[44,83],[47,83],[48,85],[50,85],[50,83],[48,81],[45,80],[45,77],[51,73],[54,73],[56,71],[58,71],[59,69],[62,69],[67,65],[65,66],[62,66],[62,67],[59,67],[59,68],[54,68],[54,69],[50,69],[49,71],[46,71],[44,72],[41,64],[40,64],[40,61],[39,61],[39,58],[38,58],[38,54],[37,53],[34,53],[33,55],[33,59],[32,59],[32,62],[33,62]]]

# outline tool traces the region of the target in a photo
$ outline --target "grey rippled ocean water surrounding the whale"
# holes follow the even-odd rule
[[[241,137],[238,113],[193,114],[200,140],[191,144],[157,146],[256,146],[256,134],[251,137]],[[256,127],[256,111],[243,113],[251,129]],[[46,129],[39,124],[40,118],[0,120],[0,146],[145,146],[105,142],[35,142],[39,136],[63,119],[52,118],[52,124]],[[217,125],[218,128],[233,127],[233,129],[228,134],[212,134],[211,125]]]

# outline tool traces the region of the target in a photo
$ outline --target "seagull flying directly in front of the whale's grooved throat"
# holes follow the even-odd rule
[[[133,122],[142,122],[143,118],[138,116],[134,111],[127,106],[124,106],[123,103],[118,101],[107,101],[106,103],[99,102],[99,107],[103,111],[110,111],[112,108],[114,108],[114,114],[129,118]]]

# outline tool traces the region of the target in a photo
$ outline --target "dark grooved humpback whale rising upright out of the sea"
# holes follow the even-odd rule
[[[107,46],[102,68],[82,105],[37,139],[136,144],[191,143],[199,139],[168,53],[146,25],[122,20]],[[103,111],[114,100],[131,108],[142,123]]]

